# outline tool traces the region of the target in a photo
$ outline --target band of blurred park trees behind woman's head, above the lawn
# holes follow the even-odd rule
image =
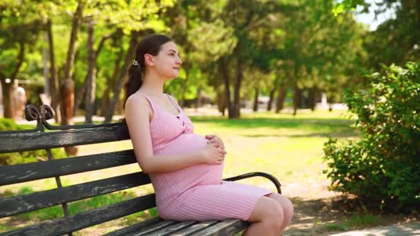
[[[17,1],[1,3],[0,114],[50,104],[57,123],[121,115],[126,68],[152,32],[184,61],[165,92],[183,107],[333,109],[381,64],[419,59],[417,1]],[[16,86],[16,85],[15,85]],[[342,106],[337,106],[342,108]]]

